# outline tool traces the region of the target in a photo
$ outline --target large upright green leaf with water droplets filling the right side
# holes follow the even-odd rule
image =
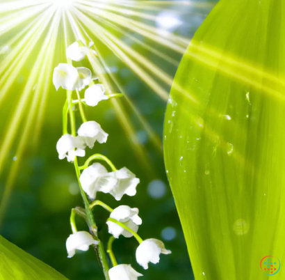
[[[165,164],[196,280],[270,279],[277,258],[285,279],[284,34],[284,0],[221,0],[179,65]]]

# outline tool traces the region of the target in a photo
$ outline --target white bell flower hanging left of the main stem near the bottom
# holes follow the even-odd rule
[[[72,233],[66,240],[68,258],[74,256],[75,250],[88,251],[89,246],[92,244],[99,244],[99,241],[95,240],[90,233],[86,231]]]

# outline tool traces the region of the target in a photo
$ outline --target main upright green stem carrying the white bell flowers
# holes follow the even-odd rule
[[[67,98],[68,98],[68,103],[70,105],[70,108],[72,108],[71,107],[71,105],[72,105],[72,91],[67,91]],[[72,109],[70,109],[69,111],[70,111],[70,126],[72,128],[72,136],[76,137],[76,125],[75,125],[74,111]],[[75,171],[76,171],[76,177],[77,177],[77,180],[79,182],[79,188],[80,188],[81,196],[82,196],[84,204],[85,204],[86,215],[88,218],[88,224],[90,226],[90,231],[92,232],[93,235],[95,235],[95,238],[97,238],[97,226],[95,224],[95,220],[93,218],[92,211],[89,207],[88,198],[86,196],[86,193],[83,191],[83,188],[82,188],[80,180],[79,180],[80,171],[79,171],[79,166],[78,166],[78,162],[77,162],[77,157],[74,158],[74,167],[75,167]],[[108,275],[108,270],[109,270],[108,259],[106,256],[106,252],[104,250],[103,242],[99,242],[99,244],[96,247],[96,250],[97,250],[97,253],[99,254],[99,259],[101,260],[101,266],[103,267],[104,276],[105,276],[106,280],[110,280],[109,275]]]

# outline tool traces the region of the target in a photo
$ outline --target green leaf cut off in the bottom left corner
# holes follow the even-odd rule
[[[67,280],[0,235],[0,280]]]

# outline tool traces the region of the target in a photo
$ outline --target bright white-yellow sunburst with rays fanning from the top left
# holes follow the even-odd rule
[[[2,116],[6,113],[8,116],[1,120],[6,130],[3,130],[0,142],[0,175],[2,171],[9,172],[6,187],[1,190],[0,218],[8,203],[24,148],[29,139],[37,143],[46,101],[49,92],[54,91],[51,88],[52,70],[63,62],[60,57],[64,56],[66,47],[75,40],[87,44],[95,42],[92,47],[98,56],[88,56],[88,60],[108,93],[124,93],[124,89],[104,59],[107,53],[120,59],[166,101],[173,77],[140,54],[132,44],[176,67],[179,61],[169,54],[184,54],[190,38],[172,33],[182,21],[179,14],[172,12],[173,6],[181,13],[185,8],[193,8],[194,15],[206,15],[213,4],[129,0],[20,0],[0,4],[0,108]],[[15,88],[15,79],[19,79],[22,72],[29,79]],[[128,93],[124,94],[128,108],[136,114],[154,146],[161,150],[160,138],[127,97]],[[8,109],[7,102],[11,100],[13,108]],[[127,109],[116,99],[112,104],[134,152],[147,168],[147,153],[136,137]],[[6,166],[12,148],[16,151],[17,161]]]

